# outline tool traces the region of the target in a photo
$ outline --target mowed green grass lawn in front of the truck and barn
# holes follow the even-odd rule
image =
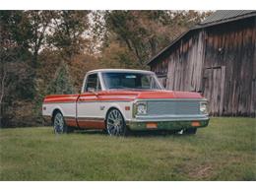
[[[212,118],[196,135],[0,130],[0,180],[256,180],[254,118]]]

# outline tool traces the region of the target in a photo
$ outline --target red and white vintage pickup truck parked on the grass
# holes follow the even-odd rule
[[[165,91],[155,73],[100,69],[87,73],[79,95],[45,96],[42,115],[55,133],[100,129],[125,136],[133,130],[195,134],[209,123],[207,99]]]

